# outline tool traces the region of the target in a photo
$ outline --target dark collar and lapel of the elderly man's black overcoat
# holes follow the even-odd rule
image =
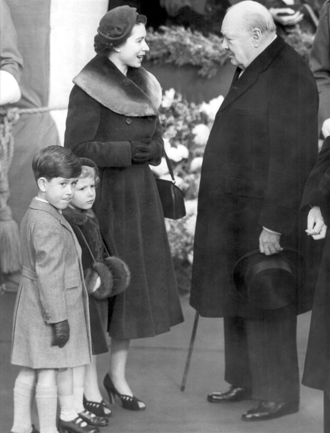
[[[238,78],[238,75],[241,69],[236,69],[229,92],[223,100],[218,113],[233,103],[256,82],[260,72],[269,66],[273,58],[284,47],[284,44],[284,40],[280,36],[277,36],[276,39],[252,61],[240,78]]]

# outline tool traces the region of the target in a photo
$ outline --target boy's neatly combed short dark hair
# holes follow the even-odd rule
[[[32,171],[34,178],[72,179],[81,174],[81,162],[70,149],[62,146],[48,146],[39,150],[32,159]]]

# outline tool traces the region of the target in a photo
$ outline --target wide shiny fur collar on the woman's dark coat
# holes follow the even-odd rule
[[[125,76],[112,61],[99,55],[73,82],[109,110],[125,116],[156,116],[162,102],[159,82],[142,66],[128,68]]]

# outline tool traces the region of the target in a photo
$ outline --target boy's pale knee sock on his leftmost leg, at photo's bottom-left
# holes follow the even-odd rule
[[[13,433],[31,433],[31,406],[36,385],[28,385],[15,381],[14,387],[14,422],[11,431]]]

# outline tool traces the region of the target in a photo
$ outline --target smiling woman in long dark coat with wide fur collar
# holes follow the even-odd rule
[[[116,394],[131,410],[145,404],[125,378],[129,340],[164,333],[183,321],[162,204],[149,168],[163,154],[162,92],[141,67],[149,50],[145,24],[146,17],[129,6],[101,19],[97,55],[73,80],[64,143],[97,164],[101,234],[131,272],[127,290],[109,301],[111,356],[104,379],[110,401]]]

